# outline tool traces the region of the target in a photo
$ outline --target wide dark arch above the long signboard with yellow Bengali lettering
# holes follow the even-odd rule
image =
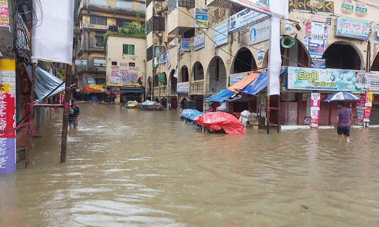
[[[349,42],[338,41],[329,45],[322,58],[326,68],[364,70],[362,53]]]

